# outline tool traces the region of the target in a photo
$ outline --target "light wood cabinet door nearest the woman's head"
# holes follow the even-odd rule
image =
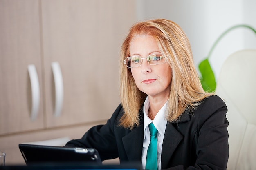
[[[120,103],[119,51],[135,22],[135,0],[43,0],[47,127],[110,118]],[[64,95],[54,117],[51,63],[61,67]]]

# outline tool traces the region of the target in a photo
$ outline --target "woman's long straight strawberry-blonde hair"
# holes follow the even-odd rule
[[[186,109],[193,109],[212,93],[204,92],[196,72],[190,43],[184,31],[175,22],[154,19],[134,24],[121,46],[121,63],[130,56],[130,42],[141,35],[153,36],[159,50],[172,70],[170,95],[166,108],[169,122],[177,121]],[[139,110],[146,99],[132,77],[130,68],[120,65],[120,97],[124,115],[120,125],[125,128],[139,126]]]

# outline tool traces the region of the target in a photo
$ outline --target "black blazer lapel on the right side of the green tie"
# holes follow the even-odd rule
[[[174,124],[181,123],[185,121],[189,121],[190,116],[186,111],[182,114],[182,117]],[[161,156],[161,168],[166,168],[168,166],[168,162],[171,160],[173,152],[177,148],[180,141],[183,139],[183,135],[173,126],[172,123],[167,122],[166,130],[164,134],[164,141],[162,148],[162,156]]]

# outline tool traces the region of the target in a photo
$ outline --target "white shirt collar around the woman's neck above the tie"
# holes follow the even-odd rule
[[[167,103],[167,102],[166,102]],[[150,107],[150,103],[148,100],[148,97],[146,98],[144,105],[143,105],[143,114],[144,114],[144,139],[145,139],[145,130],[146,127],[153,122],[153,124],[155,125],[155,128],[157,128],[157,131],[160,133],[160,135],[164,135],[165,132],[165,128],[166,128],[166,124],[167,124],[167,120],[166,120],[166,116],[165,116],[165,109],[166,109],[166,103],[164,104],[164,106],[159,110],[159,112],[157,113],[157,115],[155,116],[154,120],[151,120],[148,117],[148,109]]]

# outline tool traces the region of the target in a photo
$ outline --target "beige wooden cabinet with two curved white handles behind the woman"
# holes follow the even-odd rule
[[[20,134],[43,133],[20,142],[46,140],[56,130],[110,118],[119,104],[120,46],[135,17],[135,0],[0,0],[0,150],[18,150],[19,141],[7,146],[7,139],[20,140]],[[52,69],[56,62],[63,97],[56,93],[62,92]],[[34,120],[31,64],[40,93]],[[61,132],[58,137],[71,135]]]

